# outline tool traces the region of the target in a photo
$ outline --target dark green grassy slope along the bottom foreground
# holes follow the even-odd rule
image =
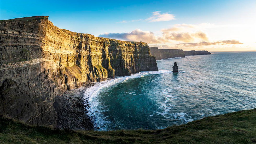
[[[256,108],[155,131],[71,131],[0,116],[0,143],[256,143]]]

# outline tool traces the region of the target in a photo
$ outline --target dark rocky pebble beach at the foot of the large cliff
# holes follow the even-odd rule
[[[55,99],[57,128],[73,130],[94,130],[93,116],[89,116],[89,97],[84,92],[95,83],[86,83],[80,88],[69,90]]]

